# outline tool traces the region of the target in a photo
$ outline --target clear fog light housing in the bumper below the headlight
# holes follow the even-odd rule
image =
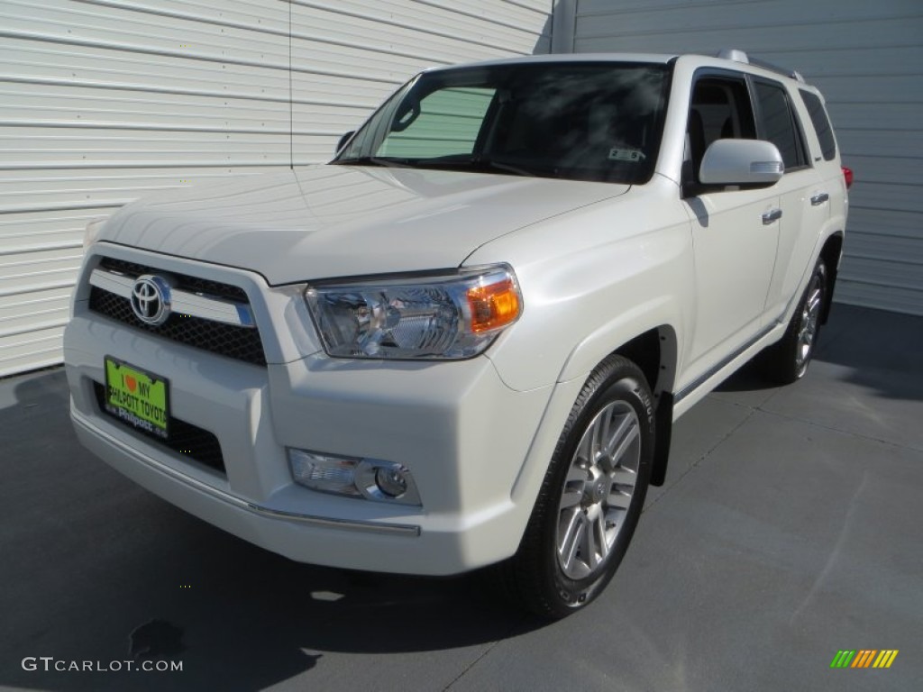
[[[413,474],[394,461],[340,457],[292,448],[288,456],[294,482],[312,490],[420,505]]]

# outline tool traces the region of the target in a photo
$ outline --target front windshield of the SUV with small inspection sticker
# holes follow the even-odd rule
[[[425,72],[333,163],[645,183],[663,130],[667,66],[533,63]]]

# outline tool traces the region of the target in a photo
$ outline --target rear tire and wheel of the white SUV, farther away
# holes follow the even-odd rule
[[[827,266],[817,260],[795,314],[781,340],[762,355],[763,374],[780,385],[789,385],[805,376],[821,333],[821,312],[827,299]]]

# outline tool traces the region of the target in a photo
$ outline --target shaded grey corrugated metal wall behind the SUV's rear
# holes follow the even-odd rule
[[[723,47],[794,67],[826,97],[857,180],[836,299],[923,315],[923,3],[576,0],[578,53]]]

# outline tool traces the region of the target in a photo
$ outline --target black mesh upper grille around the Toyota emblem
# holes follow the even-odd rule
[[[130,277],[157,273],[158,271],[154,268],[115,260],[111,257],[104,257],[100,267],[118,271]],[[197,279],[196,277],[174,274],[173,272],[170,272],[170,276],[178,281],[179,285],[176,287],[178,289],[200,292],[241,303],[247,302],[246,292],[238,286]],[[131,302],[127,298],[103,291],[96,286],[90,287],[90,310],[114,319],[116,322],[121,322],[128,327],[155,334],[163,339],[178,341],[187,346],[218,353],[246,363],[266,364],[266,353],[263,352],[263,343],[259,338],[257,328],[238,327],[223,324],[222,322],[214,322],[202,317],[184,316],[177,313],[169,316],[162,325],[154,327],[145,324],[135,316],[134,311],[131,309]]]

